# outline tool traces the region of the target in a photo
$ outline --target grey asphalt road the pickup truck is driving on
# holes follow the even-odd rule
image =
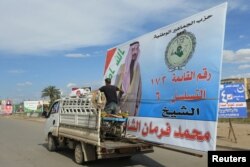
[[[156,148],[155,152],[136,155],[130,160],[112,159],[77,165],[73,151],[68,149],[49,152],[43,133],[44,124],[0,116],[1,167],[74,167],[74,166],[152,166],[152,167],[206,167],[207,156],[202,158]]]

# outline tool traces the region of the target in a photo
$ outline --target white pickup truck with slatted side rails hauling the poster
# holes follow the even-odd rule
[[[153,152],[152,145],[126,137],[126,118],[102,117],[101,107],[91,99],[89,93],[54,102],[45,123],[49,151],[65,146],[74,149],[78,164]]]

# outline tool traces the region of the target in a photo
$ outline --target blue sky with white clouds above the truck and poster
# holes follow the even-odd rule
[[[0,0],[0,99],[103,84],[106,51],[228,2],[222,78],[250,77],[247,0]],[[214,27],[216,28],[216,27]]]

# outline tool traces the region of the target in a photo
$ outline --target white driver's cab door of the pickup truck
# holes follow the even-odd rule
[[[48,115],[45,123],[45,136],[48,136],[49,133],[57,136],[58,134],[58,126],[59,126],[59,101],[55,102]]]

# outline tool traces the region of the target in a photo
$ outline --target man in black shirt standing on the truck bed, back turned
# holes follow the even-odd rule
[[[103,92],[106,97],[104,111],[109,114],[117,114],[118,97],[116,91],[120,91],[121,94],[123,91],[118,87],[111,85],[110,78],[105,79],[105,86],[102,86],[99,90]]]

